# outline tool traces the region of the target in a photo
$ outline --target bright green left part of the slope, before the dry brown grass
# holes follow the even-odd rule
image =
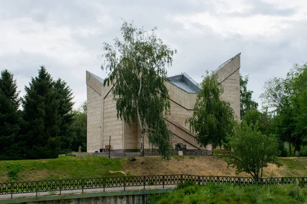
[[[105,157],[59,157],[57,159],[0,161],[0,182],[117,176],[122,161]]]

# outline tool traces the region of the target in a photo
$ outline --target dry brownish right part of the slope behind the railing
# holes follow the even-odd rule
[[[236,174],[235,169],[227,166],[223,159],[212,156],[174,156],[169,162],[159,157],[137,158],[135,162],[124,161],[126,172],[131,175],[192,174],[220,176],[250,176]],[[143,163],[143,164],[142,164]],[[264,169],[264,177],[286,177],[307,175],[307,157],[280,158],[281,167],[271,165]]]

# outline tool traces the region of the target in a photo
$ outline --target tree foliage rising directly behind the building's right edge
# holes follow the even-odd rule
[[[245,114],[249,110],[257,110],[258,103],[252,100],[252,93],[251,90],[247,90],[247,83],[248,83],[248,75],[243,77],[240,75],[240,118],[241,120],[244,118]]]

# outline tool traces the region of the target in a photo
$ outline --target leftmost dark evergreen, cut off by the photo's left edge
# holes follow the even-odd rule
[[[0,77],[0,160],[14,160],[23,157],[23,143],[20,141],[19,91],[16,80],[7,69]]]

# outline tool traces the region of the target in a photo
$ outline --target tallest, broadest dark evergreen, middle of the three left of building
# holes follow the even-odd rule
[[[44,66],[38,77],[25,87],[23,101],[27,158],[56,158],[59,150],[61,117],[54,81]]]

